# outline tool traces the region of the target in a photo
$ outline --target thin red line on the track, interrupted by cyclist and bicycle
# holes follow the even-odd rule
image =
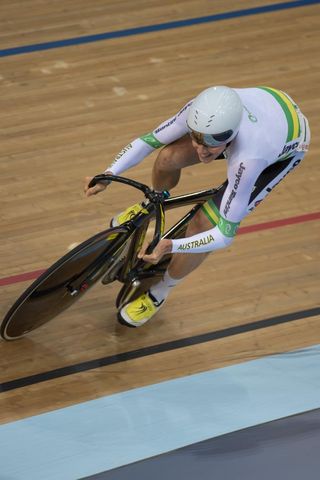
[[[258,232],[259,230],[269,230],[270,228],[285,227],[286,225],[294,225],[296,223],[311,222],[312,220],[320,220],[320,212],[306,213],[297,217],[283,218],[281,220],[273,220],[271,222],[256,223],[247,227],[239,228],[238,234],[246,234]],[[21,273],[11,277],[0,278],[0,287],[4,285],[12,285],[13,283],[25,282],[26,280],[34,280],[39,277],[45,270],[35,270],[34,272]]]

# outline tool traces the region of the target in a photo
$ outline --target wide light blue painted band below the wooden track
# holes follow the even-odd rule
[[[320,407],[320,345],[0,427],[1,480],[73,480]]]

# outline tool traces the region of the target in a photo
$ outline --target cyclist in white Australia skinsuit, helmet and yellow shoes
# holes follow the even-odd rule
[[[210,87],[188,102],[155,130],[129,143],[105,173],[119,175],[163,147],[153,166],[157,191],[171,190],[181,169],[224,158],[227,180],[214,198],[197,212],[182,239],[162,239],[150,255],[151,263],[174,253],[163,279],[138,299],[125,305],[123,323],[138,327],[152,318],[169,291],[198,267],[206,256],[233,241],[241,220],[303,159],[310,143],[306,117],[286,93],[270,88]],[[208,167],[208,173],[210,167]],[[105,189],[98,184],[85,192]],[[130,207],[113,219],[121,224],[137,213]]]

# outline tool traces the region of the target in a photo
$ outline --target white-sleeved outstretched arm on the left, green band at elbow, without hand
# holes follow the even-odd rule
[[[136,138],[115,157],[106,172],[120,175],[125,170],[140,163],[157,148],[178,140],[188,132],[186,118],[192,102],[187,103],[174,117],[161,123],[152,132]]]

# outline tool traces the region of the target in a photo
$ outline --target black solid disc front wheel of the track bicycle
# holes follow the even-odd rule
[[[0,326],[4,340],[16,340],[69,308],[103,275],[116,278],[118,253],[130,234],[114,227],[89,238],[46,270],[17,299]],[[112,275],[110,272],[112,271]]]

